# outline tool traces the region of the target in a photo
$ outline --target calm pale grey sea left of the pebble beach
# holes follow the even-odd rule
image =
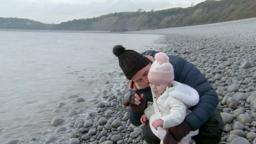
[[[106,75],[118,69],[114,45],[143,52],[157,47],[161,37],[0,31],[0,143],[53,129],[53,110],[59,102],[71,103],[69,95],[92,99],[109,80]],[[86,102],[70,105],[95,107]]]

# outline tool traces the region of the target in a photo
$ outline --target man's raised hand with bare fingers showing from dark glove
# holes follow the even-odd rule
[[[131,107],[131,111],[135,114],[141,113],[145,109],[146,106],[146,99],[143,95],[139,95],[139,90],[137,89],[136,85],[134,84],[134,92],[123,101],[124,106]]]

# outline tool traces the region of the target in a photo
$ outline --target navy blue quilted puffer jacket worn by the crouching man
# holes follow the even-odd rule
[[[158,52],[150,50],[141,54],[155,57],[156,53]],[[187,84],[199,93],[200,99],[198,104],[189,108],[192,112],[185,118],[185,121],[192,127],[192,130],[195,131],[209,119],[215,108],[218,106],[218,95],[210,82],[207,81],[205,76],[192,63],[174,55],[169,55],[169,59],[174,68],[174,81]],[[147,101],[153,102],[150,87],[139,91],[145,95]],[[140,125],[140,117],[142,114],[143,112],[134,114],[131,109],[129,109],[128,117],[130,122],[133,125]]]

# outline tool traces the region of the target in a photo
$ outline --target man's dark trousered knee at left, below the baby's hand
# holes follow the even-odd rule
[[[151,131],[149,126],[149,121],[146,122],[146,125],[143,126],[143,137],[147,143],[160,143],[160,139]]]

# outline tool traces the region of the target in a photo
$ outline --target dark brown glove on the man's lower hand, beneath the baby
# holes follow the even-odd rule
[[[182,138],[186,137],[189,132],[192,131],[191,126],[183,121],[181,124],[170,127],[165,134],[163,143],[164,144],[178,144]]]

